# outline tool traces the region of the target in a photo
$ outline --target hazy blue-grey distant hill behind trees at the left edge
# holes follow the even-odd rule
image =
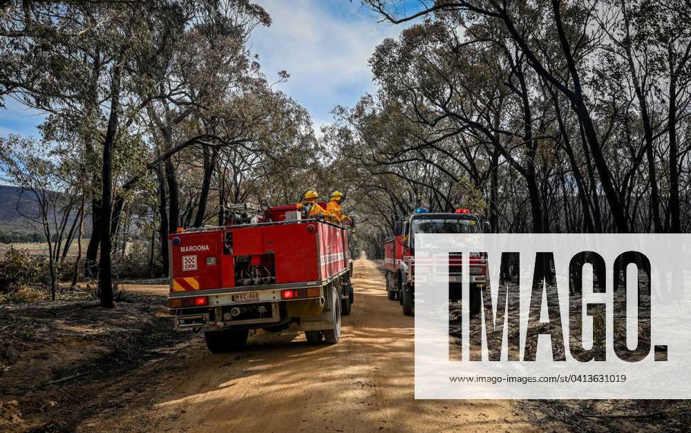
[[[38,206],[29,197],[27,193],[21,195],[21,190],[16,186],[0,185],[0,238],[13,238],[10,242],[31,242],[35,235],[40,235],[42,240],[43,232],[32,227],[22,216],[38,215]],[[70,223],[75,217],[70,218]],[[91,233],[89,222],[88,219],[84,222],[85,235]]]

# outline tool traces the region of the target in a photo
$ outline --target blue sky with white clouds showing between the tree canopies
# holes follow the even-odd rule
[[[310,111],[315,131],[332,121],[336,105],[352,106],[372,91],[367,60],[386,37],[403,26],[377,23],[359,0],[255,0],[271,15],[269,28],[257,28],[252,50],[270,81],[279,70],[290,79],[276,86]],[[6,99],[0,109],[0,137],[10,133],[38,136],[43,116]]]

